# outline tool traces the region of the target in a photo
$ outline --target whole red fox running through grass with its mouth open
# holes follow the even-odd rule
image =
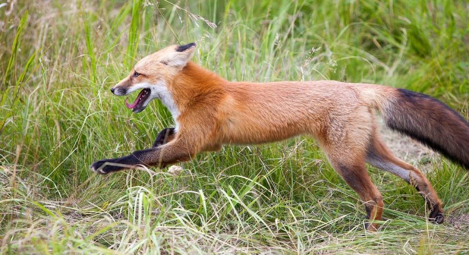
[[[330,165],[364,204],[365,229],[376,231],[383,197],[365,163],[412,185],[429,208],[428,221],[443,223],[442,202],[424,174],[397,158],[380,139],[375,112],[385,126],[434,149],[469,170],[469,124],[449,106],[401,88],[339,81],[230,82],[190,61],[196,43],[171,45],[134,65],[110,91],[125,96],[134,113],[159,99],[174,127],[164,128],[149,149],[94,162],[107,174],[136,166],[165,167],[223,145],[272,143],[314,137]]]

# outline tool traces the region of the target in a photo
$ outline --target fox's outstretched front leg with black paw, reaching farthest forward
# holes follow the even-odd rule
[[[120,158],[103,159],[94,162],[89,168],[100,174],[133,168],[136,165],[165,167],[169,164],[188,161],[195,149],[188,148],[184,141],[171,141],[151,149],[136,150]]]

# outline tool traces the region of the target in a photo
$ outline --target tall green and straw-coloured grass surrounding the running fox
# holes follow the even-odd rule
[[[109,87],[174,43],[232,81],[331,79],[430,94],[468,118],[469,6],[452,0],[18,0],[0,3],[0,254],[469,253],[468,171],[415,163],[444,202],[370,168],[384,220],[314,140],[225,147],[163,169],[92,173],[172,125]],[[197,16],[199,15],[199,16]],[[216,28],[213,24],[216,24]]]

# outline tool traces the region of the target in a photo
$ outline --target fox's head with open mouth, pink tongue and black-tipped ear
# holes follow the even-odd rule
[[[141,89],[132,104],[126,99],[126,106],[133,112],[143,111],[155,98],[161,99],[172,112],[175,106],[167,85],[186,66],[195,46],[195,43],[171,45],[146,56],[135,64],[124,80],[111,88],[111,92],[124,96]]]

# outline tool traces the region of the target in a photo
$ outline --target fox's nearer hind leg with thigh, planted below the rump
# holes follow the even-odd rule
[[[319,137],[321,147],[334,170],[359,195],[367,219],[381,220],[383,197],[365,168],[366,148],[374,131],[372,112],[357,106],[351,112],[332,115],[329,121],[327,132]],[[373,231],[377,226],[375,222],[367,223],[366,229]]]

